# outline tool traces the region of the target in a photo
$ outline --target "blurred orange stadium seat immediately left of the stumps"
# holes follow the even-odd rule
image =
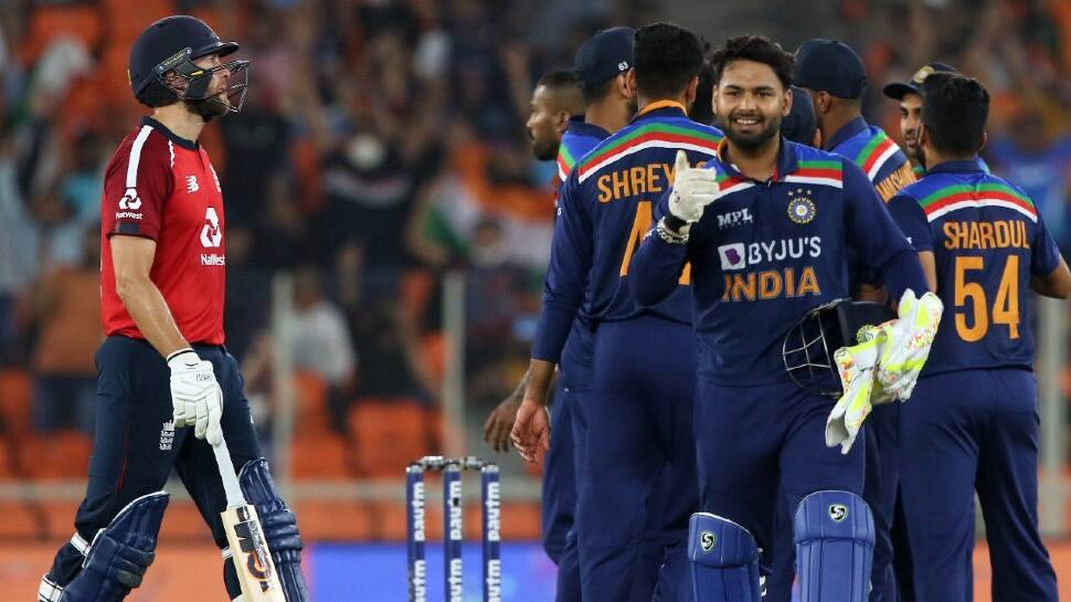
[[[349,412],[351,453],[362,476],[400,478],[430,453],[427,411],[415,401],[359,401]]]

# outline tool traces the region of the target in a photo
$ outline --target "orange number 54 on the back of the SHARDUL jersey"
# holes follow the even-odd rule
[[[974,324],[967,326],[967,317],[963,311],[956,311],[956,332],[967,342],[982,340],[989,331],[989,311],[986,305],[986,293],[976,282],[967,282],[967,273],[984,270],[982,257],[956,257],[956,308],[969,304],[974,314]],[[1008,325],[1008,337],[1019,338],[1019,257],[1008,256],[1000,275],[1000,286],[997,287],[997,298],[993,302],[993,324]]]

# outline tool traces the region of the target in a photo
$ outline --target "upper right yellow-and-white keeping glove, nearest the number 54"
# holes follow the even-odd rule
[[[911,397],[930,357],[943,310],[944,305],[933,293],[916,299],[909,288],[900,297],[900,318],[887,323],[889,340],[882,346],[874,370],[874,379],[890,400],[908,401]]]

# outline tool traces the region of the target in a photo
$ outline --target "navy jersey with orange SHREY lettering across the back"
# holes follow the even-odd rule
[[[559,362],[577,311],[592,328],[641,313],[691,324],[683,286],[653,307],[640,307],[629,291],[628,266],[650,230],[653,205],[672,183],[677,150],[685,149],[698,165],[713,157],[720,140],[721,131],[689,119],[683,106],[660,101],[574,166],[558,198],[532,358]],[[687,274],[680,281],[686,284]]]

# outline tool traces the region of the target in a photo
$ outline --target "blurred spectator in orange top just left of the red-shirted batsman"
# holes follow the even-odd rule
[[[83,237],[77,265],[61,265],[47,274],[33,308],[41,325],[33,355],[33,424],[42,432],[62,427],[93,430],[96,398],[94,355],[100,329],[99,226]]]

